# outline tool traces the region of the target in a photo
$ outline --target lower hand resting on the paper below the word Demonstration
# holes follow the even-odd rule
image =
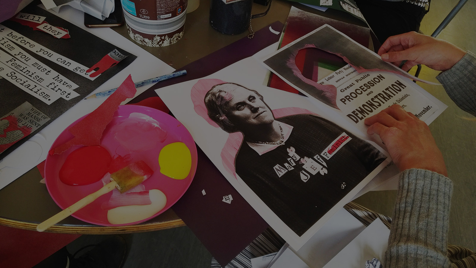
[[[400,171],[421,168],[447,176],[443,155],[425,122],[394,104],[365,119],[367,134],[378,134]]]

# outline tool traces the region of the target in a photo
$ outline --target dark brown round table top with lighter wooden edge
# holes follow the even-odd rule
[[[284,0],[272,0],[268,15],[252,20],[253,29],[258,31],[275,21],[285,23],[292,3]],[[309,10],[300,4],[293,4],[298,5],[301,9]],[[267,7],[255,3],[252,13],[260,13],[266,9]],[[342,13],[333,11],[328,10],[326,16],[363,26],[361,21],[350,15],[342,18]],[[179,69],[211,52],[247,37],[248,31],[238,35],[226,35],[215,31],[209,24],[208,14],[209,0],[201,0],[198,9],[187,14],[184,36],[177,43],[159,48],[139,46],[173,68]],[[125,25],[113,29],[132,41]],[[46,185],[40,183],[40,180],[40,172],[35,167],[10,185],[0,189],[0,225],[36,230],[36,226],[40,222],[60,212],[60,207],[55,204]],[[47,231],[55,233],[119,234],[146,232],[184,225],[185,223],[173,210],[169,209],[147,222],[125,227],[97,226],[69,216]]]

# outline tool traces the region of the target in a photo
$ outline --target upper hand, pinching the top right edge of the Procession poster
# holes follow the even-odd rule
[[[461,60],[466,52],[447,41],[412,31],[390,36],[377,54],[382,60],[397,66],[407,61],[402,66],[402,70],[407,72],[417,64],[446,71]]]

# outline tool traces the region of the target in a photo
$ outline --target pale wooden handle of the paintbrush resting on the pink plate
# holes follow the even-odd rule
[[[73,205],[65,208],[64,210],[60,211],[58,214],[50,217],[49,219],[45,220],[44,222],[40,223],[37,227],[36,230],[39,232],[43,232],[44,230],[50,228],[51,226],[59,223],[61,220],[65,219],[67,216],[70,216],[71,214],[75,213],[79,209],[83,208],[84,206],[92,203],[94,200],[96,200],[99,196],[102,196],[106,193],[109,193],[116,187],[117,183],[115,181],[112,181],[108,183],[107,185],[103,186],[100,188],[98,191],[89,194],[88,196],[85,196],[78,202],[74,203]]]

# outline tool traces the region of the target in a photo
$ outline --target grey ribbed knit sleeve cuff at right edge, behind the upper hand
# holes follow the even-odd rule
[[[473,53],[467,52],[436,79],[443,84],[446,93],[459,108],[476,116],[476,56]]]

